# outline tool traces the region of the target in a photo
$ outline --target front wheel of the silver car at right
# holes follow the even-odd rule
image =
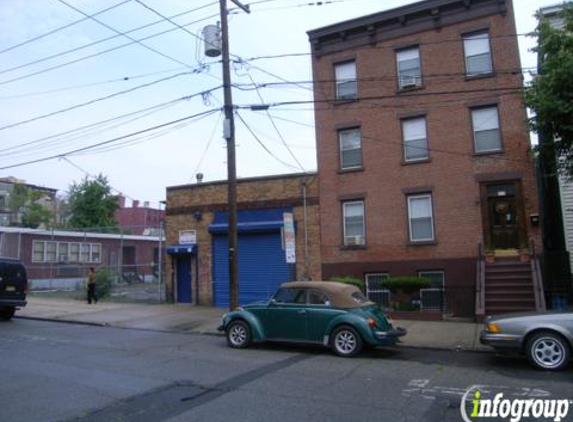
[[[526,352],[529,362],[534,366],[550,371],[565,368],[571,358],[567,340],[549,331],[534,334],[527,341]]]

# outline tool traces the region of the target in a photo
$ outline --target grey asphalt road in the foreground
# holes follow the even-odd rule
[[[397,347],[342,359],[21,319],[0,323],[0,358],[5,422],[461,421],[462,396],[476,384],[511,399],[573,399],[573,369],[540,372],[488,353]],[[573,404],[563,420],[573,420]]]

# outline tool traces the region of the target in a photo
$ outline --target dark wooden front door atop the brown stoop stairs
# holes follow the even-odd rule
[[[493,249],[519,247],[520,212],[514,184],[487,186],[489,235]]]

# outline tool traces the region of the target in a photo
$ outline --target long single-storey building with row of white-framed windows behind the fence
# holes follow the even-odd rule
[[[116,283],[157,281],[159,247],[154,236],[0,226],[0,256],[21,260],[36,290],[77,289],[89,267],[109,270]]]

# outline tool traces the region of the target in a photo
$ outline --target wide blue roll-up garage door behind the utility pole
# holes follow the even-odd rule
[[[213,236],[215,306],[229,306],[229,253],[226,235]],[[280,231],[239,234],[239,302],[266,300],[289,280]]]

